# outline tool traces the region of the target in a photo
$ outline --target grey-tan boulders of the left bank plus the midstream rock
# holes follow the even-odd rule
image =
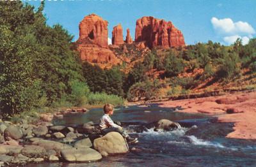
[[[44,113],[35,124],[29,124],[26,120],[18,124],[0,120],[0,165],[45,161],[91,162],[104,156],[129,152],[129,145],[120,133],[111,132],[103,136],[99,125],[93,122],[72,126],[54,126],[51,123],[52,117],[60,118],[66,113],[86,111],[85,108],[77,108],[53,114]],[[170,120],[159,120],[145,126],[166,131],[180,127]],[[145,126],[136,130],[143,131]]]

